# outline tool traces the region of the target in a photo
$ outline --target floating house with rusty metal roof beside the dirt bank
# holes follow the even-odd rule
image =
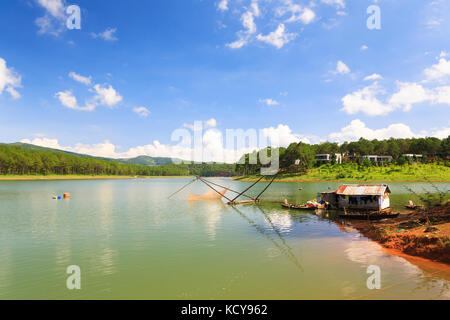
[[[390,208],[388,185],[341,185],[334,192],[321,193],[321,199],[334,209],[377,210]]]

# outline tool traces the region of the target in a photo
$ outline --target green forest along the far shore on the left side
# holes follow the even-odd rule
[[[234,164],[125,164],[46,148],[0,145],[2,175],[233,176]]]

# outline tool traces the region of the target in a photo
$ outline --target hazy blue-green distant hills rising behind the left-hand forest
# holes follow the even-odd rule
[[[114,162],[119,162],[119,163],[124,163],[124,164],[137,164],[137,165],[143,165],[143,166],[163,166],[163,165],[173,163],[172,158],[164,158],[164,157],[138,156],[135,158],[128,158],[128,159],[114,159],[114,158],[105,158],[105,157],[94,157],[94,156],[90,156],[87,154],[80,154],[80,153],[75,153],[75,152],[70,152],[70,151],[59,150],[59,149],[46,148],[46,147],[36,146],[34,144],[28,144],[28,143],[22,143],[22,142],[15,142],[15,143],[7,144],[7,145],[20,147],[20,148],[26,149],[26,150],[62,152],[65,154],[78,156],[78,157],[86,157],[86,158],[92,158],[92,159],[114,161]],[[174,159],[174,160],[182,161],[180,159]]]

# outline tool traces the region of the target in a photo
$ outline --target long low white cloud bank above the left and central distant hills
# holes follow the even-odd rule
[[[215,126],[217,122],[215,119],[209,119],[205,121],[204,124],[211,128]],[[244,139],[245,142],[242,145],[239,143],[236,145],[234,139],[224,139],[222,132],[217,129],[207,129],[203,131],[200,143],[197,143],[195,139],[192,138],[192,133],[189,131],[185,129],[179,130],[184,130],[185,132],[183,132],[181,136],[173,136],[173,142],[170,144],[162,144],[159,141],[153,141],[151,144],[131,147],[125,151],[120,151],[120,148],[108,140],[97,144],[76,143],[73,146],[63,146],[57,139],[40,136],[31,140],[24,139],[22,142],[70,152],[111,158],[131,158],[147,155],[152,157],[170,157],[202,162],[216,161],[233,163],[239,160],[244,153],[262,149],[268,145],[287,147],[292,142],[303,141],[311,143],[311,139],[318,141],[316,137],[295,134],[289,126],[283,124],[276,127],[261,129],[259,133],[256,130],[250,130],[250,135],[252,135],[253,132],[255,140]],[[249,137],[244,130],[236,130],[232,135],[239,137],[238,131],[242,132],[242,138]],[[185,133],[187,136],[184,135]],[[261,140],[258,141],[258,139]],[[227,145],[227,143],[231,143],[231,145]]]

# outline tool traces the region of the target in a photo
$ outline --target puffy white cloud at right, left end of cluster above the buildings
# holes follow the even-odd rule
[[[370,86],[348,94],[342,98],[342,110],[348,114],[363,112],[370,116],[388,114],[393,110],[393,107],[377,99],[377,95],[380,93],[384,93],[384,91],[375,82]]]

